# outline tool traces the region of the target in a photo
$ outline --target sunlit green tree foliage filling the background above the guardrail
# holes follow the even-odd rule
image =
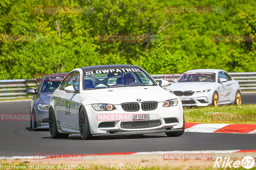
[[[35,7],[82,7],[82,14],[37,14]],[[223,13],[167,14],[165,6],[222,6]],[[1,0],[0,79],[69,72],[101,64],[135,64],[150,74],[221,68],[256,71],[256,44],[213,42],[212,35],[255,35],[254,1]],[[153,35],[145,42],[100,42],[97,35]]]

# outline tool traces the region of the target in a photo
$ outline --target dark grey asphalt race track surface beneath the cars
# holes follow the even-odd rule
[[[256,103],[256,93],[242,93],[243,103]],[[0,114],[29,113],[29,101],[0,103]],[[165,133],[100,137],[81,140],[79,135],[52,139],[49,131],[32,131],[29,121],[0,121],[0,156],[34,154],[93,154],[111,152],[249,150],[256,149],[256,134],[185,132],[180,137]]]

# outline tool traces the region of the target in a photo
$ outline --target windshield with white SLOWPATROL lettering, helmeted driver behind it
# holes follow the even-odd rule
[[[127,86],[156,86],[156,83],[138,68],[113,68],[84,72],[84,89],[102,89]]]

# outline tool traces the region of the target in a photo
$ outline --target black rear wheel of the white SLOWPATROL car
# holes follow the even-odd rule
[[[49,110],[49,131],[53,139],[56,138],[68,138],[68,133],[59,133],[57,129],[57,123],[52,108]]]

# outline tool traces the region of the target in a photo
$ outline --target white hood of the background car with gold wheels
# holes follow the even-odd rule
[[[176,82],[169,85],[166,89],[171,91],[197,91],[212,89],[215,86],[215,82]]]

